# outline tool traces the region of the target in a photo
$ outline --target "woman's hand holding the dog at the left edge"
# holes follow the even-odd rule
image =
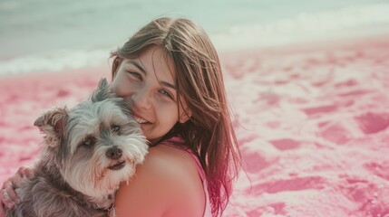
[[[33,169],[28,166],[22,166],[16,172],[14,176],[6,180],[0,190],[0,217],[4,217],[4,207],[12,209],[20,203],[15,189],[20,187],[24,177],[31,177],[33,175]]]

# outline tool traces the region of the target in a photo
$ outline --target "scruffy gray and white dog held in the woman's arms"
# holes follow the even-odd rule
[[[7,216],[114,216],[114,193],[134,175],[148,145],[107,80],[73,109],[49,109],[34,125],[44,133],[42,156]]]

